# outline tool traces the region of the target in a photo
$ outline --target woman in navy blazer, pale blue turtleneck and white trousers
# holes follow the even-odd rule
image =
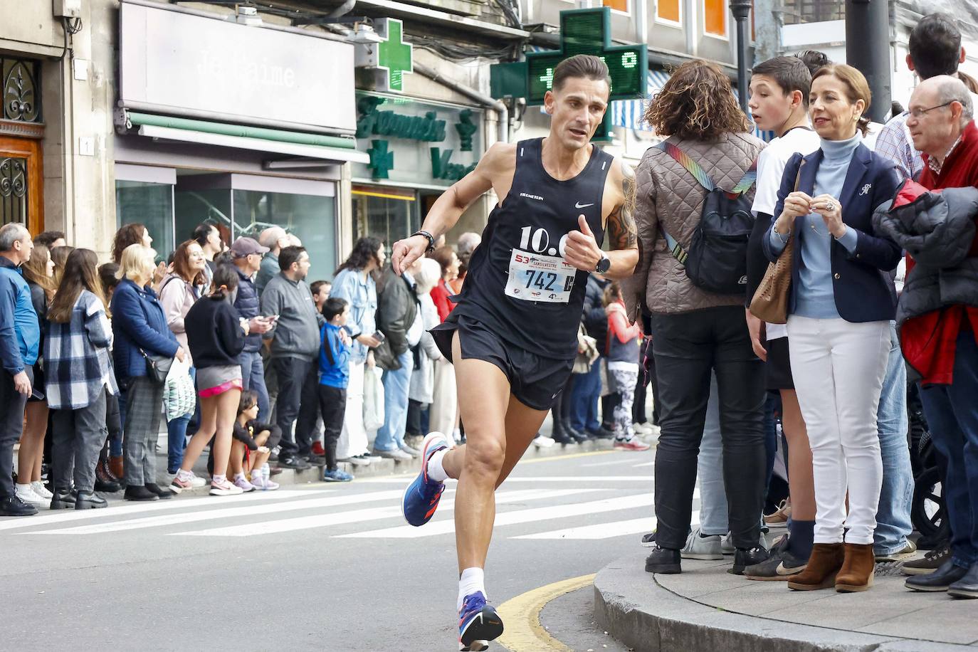
[[[809,107],[822,147],[785,166],[778,219],[763,243],[775,261],[795,238],[788,344],[816,500],[812,556],[788,581],[799,590],[872,584],[883,474],[876,412],[896,307],[887,271],[901,252],[872,230],[873,209],[896,195],[898,179],[892,162],[863,145],[869,100],[856,68],[827,65],[815,73]]]

